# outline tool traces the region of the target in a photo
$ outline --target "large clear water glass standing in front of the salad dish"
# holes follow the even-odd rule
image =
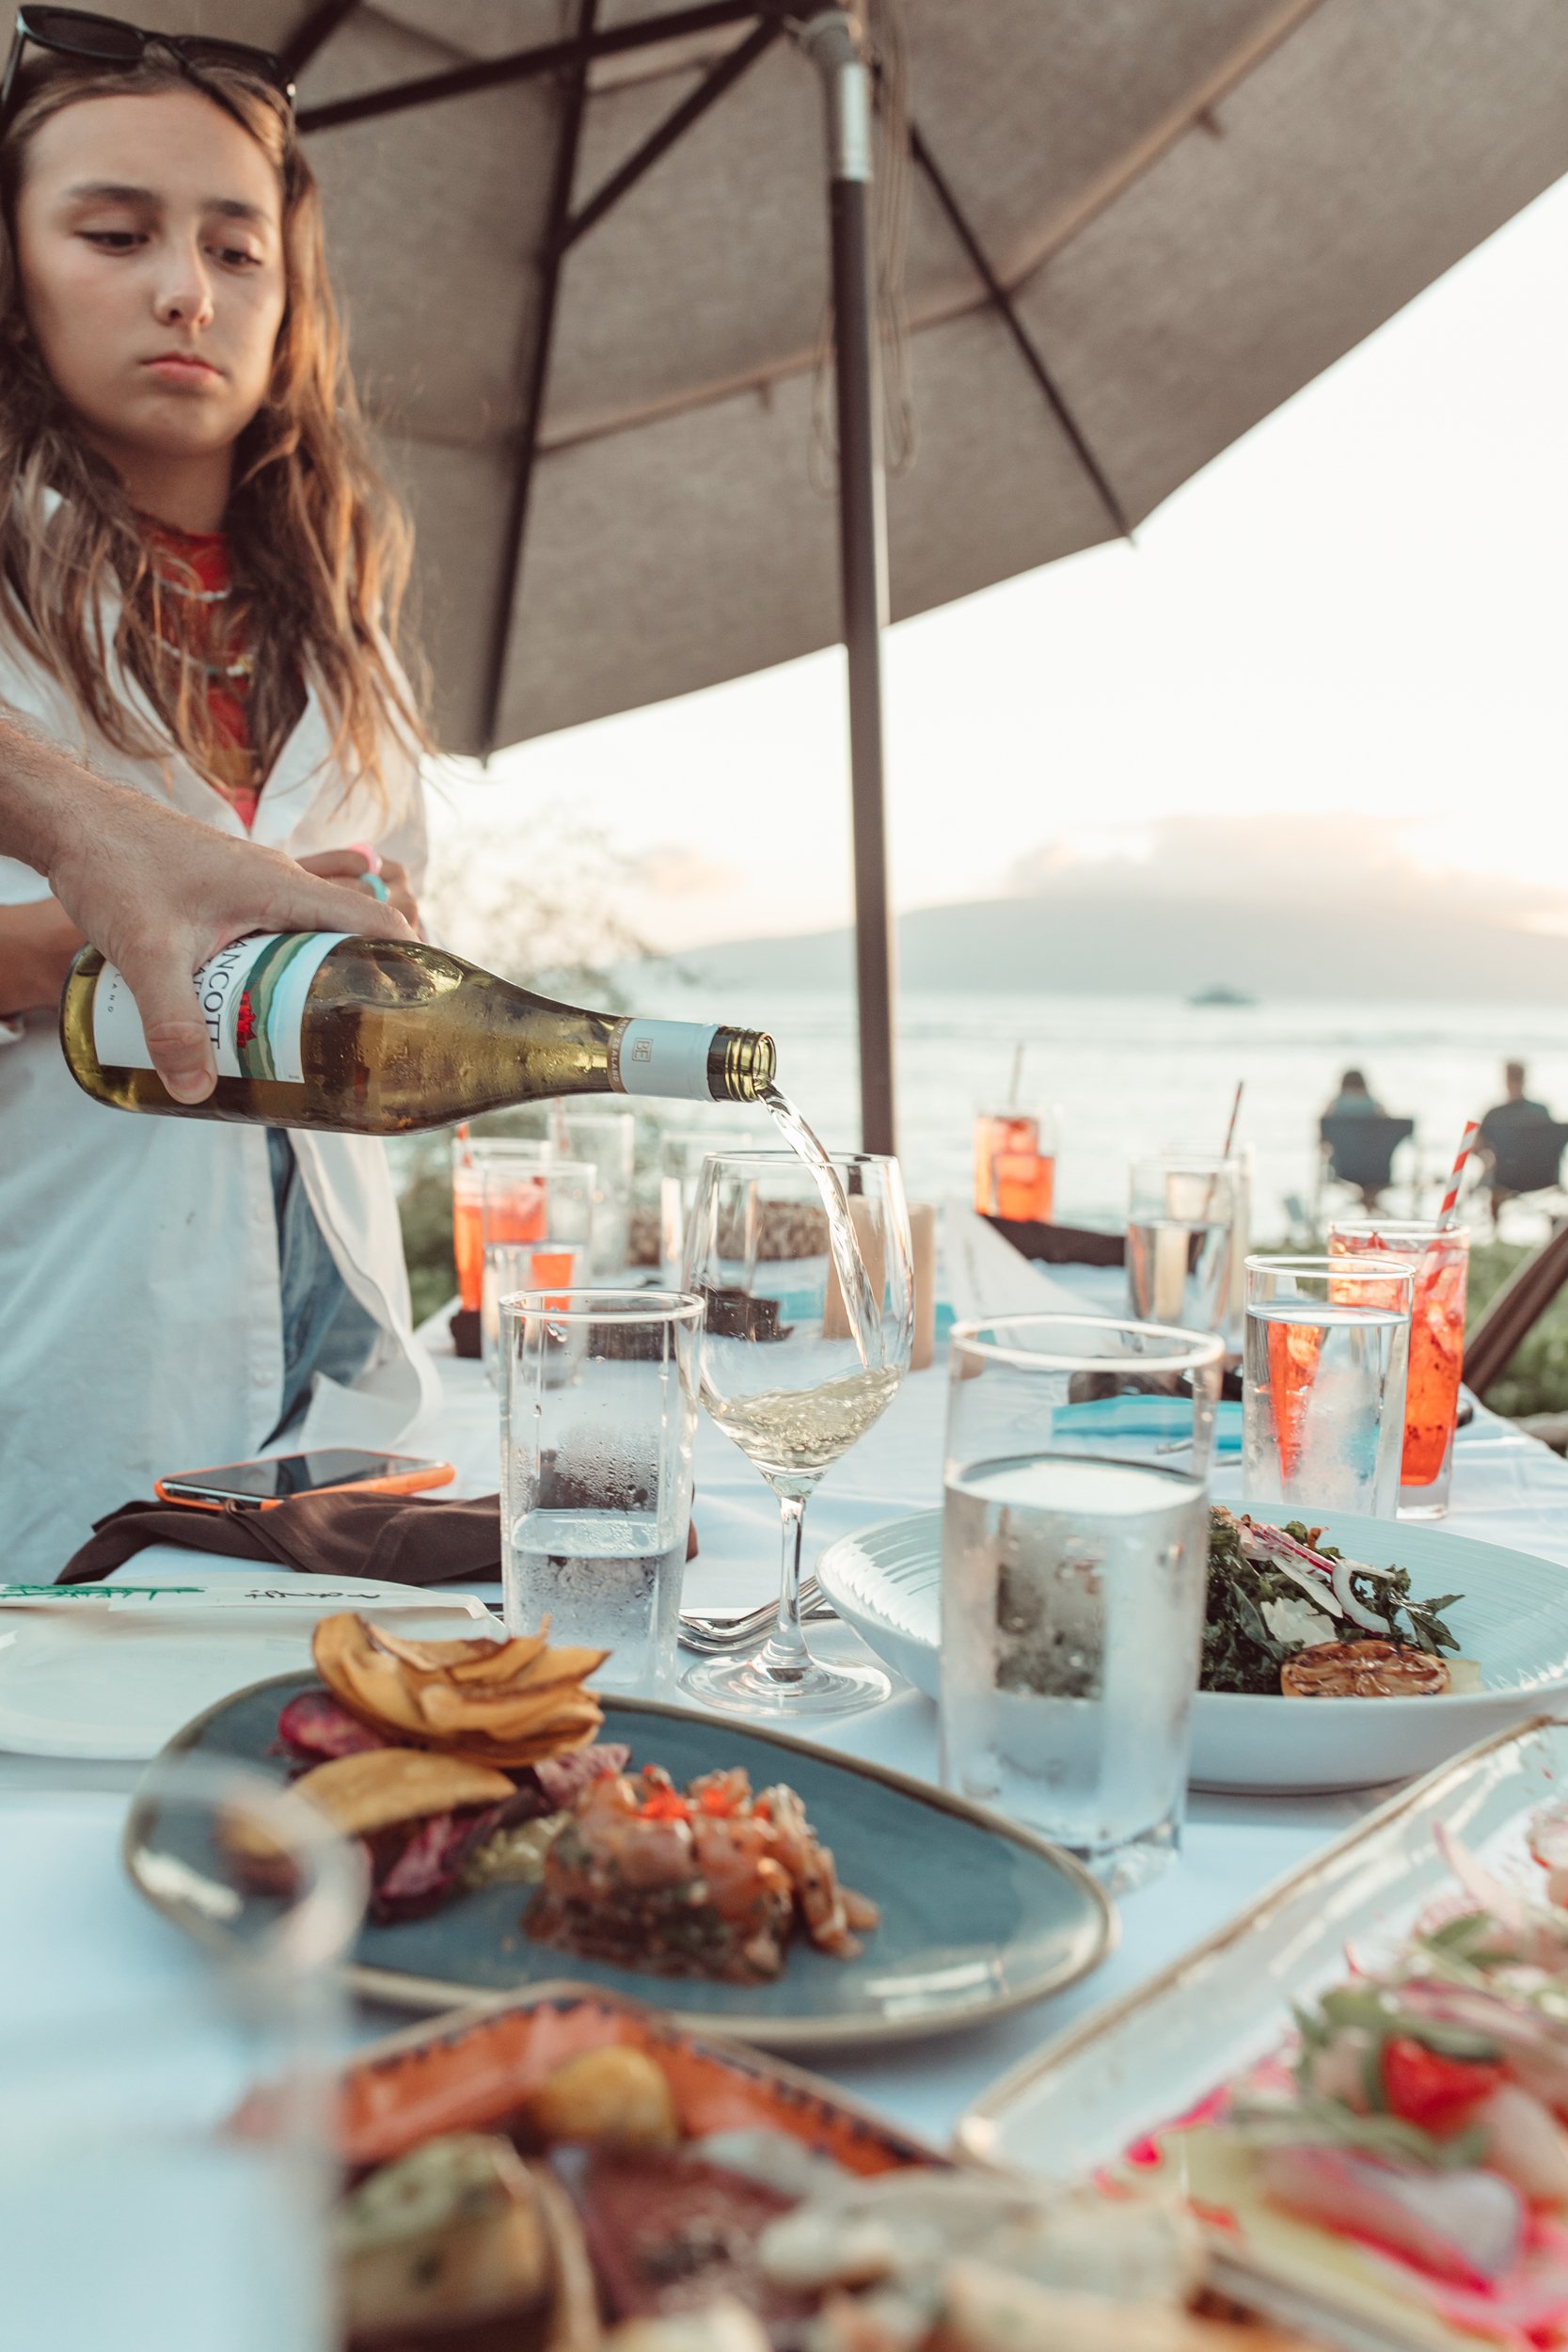
[[[1225,1343],[1011,1315],[950,1367],[943,1783],[1138,1886],[1180,1844]]]

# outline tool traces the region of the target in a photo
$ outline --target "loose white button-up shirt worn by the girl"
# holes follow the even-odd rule
[[[136,682],[120,675],[118,687],[167,741]],[[7,630],[0,703],[101,774],[244,835],[172,746],[146,760],[113,750]],[[346,790],[313,689],[261,793],[254,837],[289,856],[374,842],[418,884],[418,764],[397,746],[381,790]],[[47,889],[33,868],[0,858],[0,903]],[[292,1141],[343,1282],[381,1324],[353,1388],[317,1383],[301,1444],[397,1444],[437,1381],[409,1324],[386,1148],[367,1136]],[[0,1042],[0,1583],[52,1578],[94,1519],[150,1498],[155,1477],[254,1454],[280,1409],[266,1129],[106,1110],[71,1077],[56,1016],[26,1016]]]

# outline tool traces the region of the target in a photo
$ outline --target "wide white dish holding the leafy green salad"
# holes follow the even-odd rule
[[[1462,1592],[1446,1616],[1483,1689],[1462,1698],[1244,1698],[1199,1691],[1192,1780],[1225,1790],[1373,1788],[1432,1771],[1460,1748],[1568,1703],[1568,1569],[1533,1552],[1408,1519],[1326,1515],[1354,1559],[1410,1571],[1418,1597]],[[816,1566],[839,1616],[936,1698],[943,1515],[922,1510],[839,1536]]]

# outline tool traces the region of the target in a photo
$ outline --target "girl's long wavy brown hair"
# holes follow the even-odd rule
[[[120,475],[87,447],[61,400],[28,332],[16,263],[16,191],[40,125],[89,96],[190,87],[249,132],[282,188],[284,318],[266,402],[235,447],[223,517],[230,630],[256,656],[247,696],[256,769],[270,771],[313,680],[346,788],[355,776],[378,783],[388,734],[428,746],[397,654],[409,527],[367,449],[327,282],[315,174],[287,103],[259,78],[176,66],[158,49],[113,71],[52,61],[0,143],[0,619],[108,743],[134,757],[167,753],[115,694],[115,654],[179,750],[214,779],[221,741],[207,680],[200,663],[169,652],[190,600],[167,590]],[[167,555],[162,562],[167,579]],[[110,640],[106,583],[120,588]]]

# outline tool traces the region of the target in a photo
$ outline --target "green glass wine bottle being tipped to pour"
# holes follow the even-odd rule
[[[550,1094],[752,1103],[773,1080],[759,1030],[578,1011],[423,941],[266,931],[209,957],[195,997],[219,1082],[176,1103],[125,978],[82,948],[59,1023],[78,1087],[115,1110],[402,1136]]]

